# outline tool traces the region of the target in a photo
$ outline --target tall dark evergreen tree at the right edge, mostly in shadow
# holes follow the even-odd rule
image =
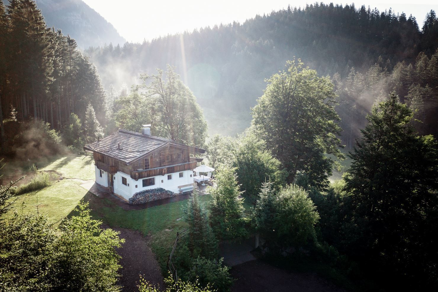
[[[436,285],[438,144],[418,136],[412,118],[395,93],[367,117],[345,176],[358,228],[350,245],[387,275],[403,275],[403,285]]]

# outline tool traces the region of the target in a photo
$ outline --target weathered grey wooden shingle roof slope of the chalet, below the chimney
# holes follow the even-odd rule
[[[84,149],[128,163],[171,141],[137,132],[118,130],[99,141],[85,145]]]

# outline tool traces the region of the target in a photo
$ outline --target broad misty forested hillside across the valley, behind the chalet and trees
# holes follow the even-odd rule
[[[424,52],[420,56],[423,61],[434,53],[437,36],[433,11],[423,25],[422,20],[395,15],[391,10],[314,4],[304,9],[288,8],[257,15],[242,24],[200,28],[142,44],[92,47],[85,53],[96,64],[106,89],[113,85],[119,90],[123,83],[127,86],[138,83],[143,72],[153,72],[166,64],[176,65],[205,111],[209,132],[231,135],[249,125],[250,107],[262,95],[264,79],[296,56],[320,75],[332,76],[340,86],[338,110],[346,135],[343,142],[351,145],[358,136],[358,128],[366,122],[365,113],[371,110],[382,89],[383,96],[388,90],[399,90],[397,93],[403,99],[411,81],[424,87],[434,80],[423,79],[422,70],[429,70],[423,69],[428,68],[429,62],[418,70],[414,68],[420,52]],[[434,60],[430,64],[432,71],[436,70],[432,69]],[[400,82],[394,80],[399,74],[394,72],[403,67],[398,64],[403,61],[404,67],[412,64],[410,68],[417,70],[417,79],[406,79],[401,87],[394,88]],[[394,82],[381,86],[382,76],[389,75]],[[351,83],[354,76],[355,84]],[[436,85],[429,86],[436,96]],[[430,100],[424,102],[434,106]],[[353,120],[349,120],[352,115]]]

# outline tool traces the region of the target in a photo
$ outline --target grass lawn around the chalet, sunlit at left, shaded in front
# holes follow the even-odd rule
[[[55,181],[53,185],[36,192],[29,192],[17,197],[16,210],[28,214],[38,211],[45,214],[50,223],[58,226],[67,216],[74,214],[73,210],[83,199],[89,202],[92,215],[111,227],[138,230],[145,236],[150,236],[151,248],[159,260],[163,271],[166,269],[167,257],[175,242],[177,231],[187,228],[183,219],[182,207],[187,200],[169,203],[143,210],[123,210],[109,199],[96,197],[82,188],[80,180],[94,178],[92,157],[52,157],[37,164],[42,171],[57,171],[63,180]],[[210,195],[200,196],[201,202],[211,199]]]

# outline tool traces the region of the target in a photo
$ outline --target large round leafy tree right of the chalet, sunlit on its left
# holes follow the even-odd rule
[[[336,94],[329,77],[303,68],[300,60],[288,61],[287,71],[272,75],[257,105],[252,125],[268,150],[289,171],[289,182],[298,173],[309,177],[311,186],[325,188],[333,160],[342,158],[341,128],[334,109]]]

